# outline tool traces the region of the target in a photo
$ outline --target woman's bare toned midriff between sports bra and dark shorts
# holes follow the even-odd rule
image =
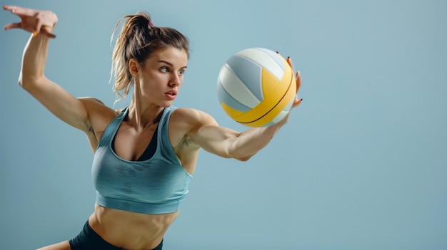
[[[159,246],[179,212],[140,214],[96,204],[89,224],[102,239],[114,246],[129,250],[148,250]]]

